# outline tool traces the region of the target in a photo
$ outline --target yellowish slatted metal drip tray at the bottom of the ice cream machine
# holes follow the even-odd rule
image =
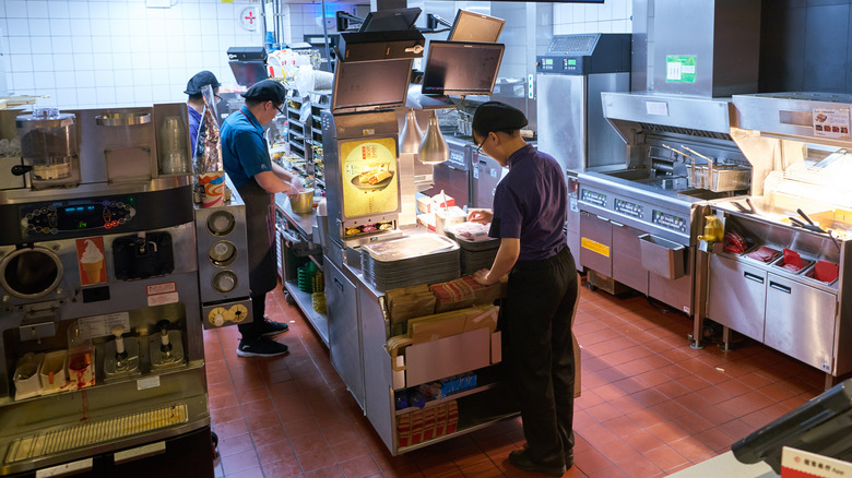
[[[106,420],[88,421],[74,427],[37,432],[13,441],[5,455],[5,463],[92,446],[188,421],[187,405],[181,403]]]

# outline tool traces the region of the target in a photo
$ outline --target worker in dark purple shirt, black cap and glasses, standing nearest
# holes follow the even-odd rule
[[[492,268],[476,272],[474,279],[490,285],[509,275],[499,323],[526,439],[509,462],[561,476],[573,465],[571,318],[579,283],[564,232],[565,174],[556,159],[521,138],[526,123],[522,111],[499,101],[484,103],[473,116],[477,147],[509,167],[497,184],[494,211],[469,215],[490,223],[488,235],[500,238]]]

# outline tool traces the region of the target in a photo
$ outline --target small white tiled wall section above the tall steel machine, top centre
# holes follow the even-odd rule
[[[631,0],[603,3],[555,3],[554,35],[577,33],[631,33]]]

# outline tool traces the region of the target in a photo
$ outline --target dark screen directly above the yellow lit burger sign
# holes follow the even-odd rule
[[[332,112],[371,111],[405,103],[411,59],[338,61]]]

